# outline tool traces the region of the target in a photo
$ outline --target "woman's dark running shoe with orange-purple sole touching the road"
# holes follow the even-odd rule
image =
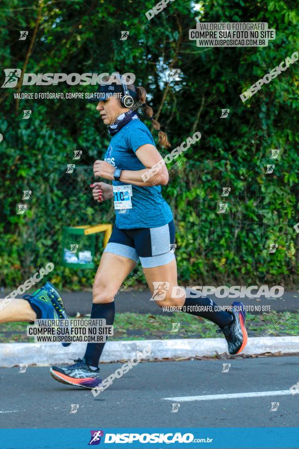
[[[99,368],[92,370],[84,358],[74,362],[69,366],[52,366],[50,375],[58,382],[81,388],[93,389],[101,384]]]

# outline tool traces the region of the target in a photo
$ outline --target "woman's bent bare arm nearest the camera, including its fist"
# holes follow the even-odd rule
[[[166,185],[168,183],[167,167],[154,145],[150,143],[141,145],[135,154],[146,168],[142,170],[122,170],[121,182],[143,187]],[[95,176],[111,181],[114,180],[114,170],[115,167],[105,161],[95,161],[93,166]]]

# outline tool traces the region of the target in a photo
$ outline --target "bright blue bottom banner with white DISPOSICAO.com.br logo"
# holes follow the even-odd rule
[[[1,429],[1,449],[295,448],[299,427]]]

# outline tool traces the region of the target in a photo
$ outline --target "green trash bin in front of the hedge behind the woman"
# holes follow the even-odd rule
[[[95,234],[85,234],[88,226],[62,230],[62,265],[69,268],[94,268]]]

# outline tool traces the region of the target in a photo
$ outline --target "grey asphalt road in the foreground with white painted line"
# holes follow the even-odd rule
[[[229,371],[222,372],[227,362]],[[102,364],[102,377],[120,366]],[[298,357],[145,362],[97,397],[56,382],[48,371],[0,369],[1,428],[297,427],[299,422],[299,394],[277,393],[299,381]],[[227,393],[247,397],[185,402],[187,396]],[[173,403],[180,404],[177,412],[172,412]],[[76,413],[70,413],[71,404],[78,406]]]

